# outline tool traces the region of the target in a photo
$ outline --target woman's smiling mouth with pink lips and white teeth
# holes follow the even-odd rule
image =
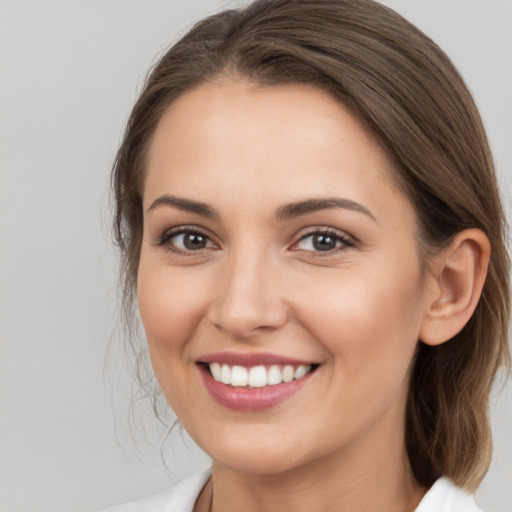
[[[219,353],[197,361],[210,396],[235,411],[261,411],[284,402],[319,366],[272,354]]]

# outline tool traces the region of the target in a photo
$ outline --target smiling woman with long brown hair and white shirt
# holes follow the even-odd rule
[[[116,510],[478,510],[508,361],[492,158],[371,0],[263,0],[156,65],[114,167],[127,304],[211,471]]]

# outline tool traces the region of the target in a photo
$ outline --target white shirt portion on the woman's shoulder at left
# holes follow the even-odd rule
[[[192,512],[210,469],[181,480],[170,489],[141,500],[118,505],[103,512]]]

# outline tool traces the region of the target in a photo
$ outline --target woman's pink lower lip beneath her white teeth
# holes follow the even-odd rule
[[[312,373],[274,386],[242,388],[217,382],[204,367],[200,367],[199,371],[212,398],[224,407],[235,411],[262,411],[274,407],[297,393]]]

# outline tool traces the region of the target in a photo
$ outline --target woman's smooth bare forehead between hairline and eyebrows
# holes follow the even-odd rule
[[[210,202],[223,187],[231,196],[276,201],[284,191],[291,200],[333,194],[364,200],[382,187],[398,195],[392,177],[371,131],[329,94],[302,84],[224,80],[183,94],[163,115],[149,152],[144,203],[162,193]]]

